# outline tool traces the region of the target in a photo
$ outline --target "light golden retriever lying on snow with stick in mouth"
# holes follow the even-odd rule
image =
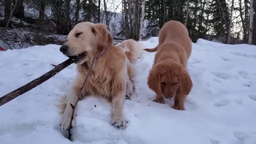
[[[94,62],[91,75],[87,79],[82,97],[99,95],[111,102],[111,124],[119,129],[126,127],[127,121],[123,117],[123,101],[125,95],[131,97],[134,93],[134,69],[131,61],[137,59],[134,54],[142,49],[133,49],[131,55],[125,55],[119,46],[113,44],[113,37],[106,26],[91,22],[78,23],[68,34],[68,41],[60,47],[60,51],[67,57],[74,59],[77,64],[77,76],[66,97],[62,100],[62,130],[68,130],[74,106],[79,98],[80,89],[85,81],[87,71],[94,57],[105,47],[102,57]],[[130,50],[131,51],[131,50]],[[129,51],[129,52],[130,52]],[[127,53],[129,53],[127,52]],[[75,125],[75,116],[74,123]]]

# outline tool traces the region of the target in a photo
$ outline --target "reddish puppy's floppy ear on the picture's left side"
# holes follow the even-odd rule
[[[161,74],[158,73],[156,67],[153,67],[148,76],[148,86],[149,89],[153,90],[156,94],[161,95],[161,87],[160,87],[160,77]]]

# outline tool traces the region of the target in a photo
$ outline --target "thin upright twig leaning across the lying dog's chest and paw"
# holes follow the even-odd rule
[[[69,123],[69,127],[68,127],[68,139],[69,139],[69,140],[71,140],[71,135],[72,135],[72,134],[71,134],[71,129],[72,129],[72,121],[73,121],[73,119],[74,119],[75,109],[76,109],[76,106],[77,106],[78,101],[80,100],[79,98],[82,98],[82,89],[83,89],[83,87],[84,87],[84,85],[85,85],[85,83],[86,83],[86,81],[87,81],[87,79],[88,79],[88,77],[89,77],[89,75],[90,75],[90,73],[91,73],[92,66],[93,66],[94,62],[95,62],[96,60],[98,60],[100,57],[102,57],[103,53],[105,53],[105,51],[106,51],[107,48],[110,46],[110,44],[111,44],[111,43],[109,43],[108,46],[106,46],[96,57],[93,58],[92,63],[91,63],[91,65],[90,65],[90,67],[89,67],[88,73],[87,73],[87,75],[86,75],[86,77],[85,77],[85,79],[84,79],[84,83],[83,83],[82,87],[80,88],[80,93],[79,93],[79,95],[78,95],[78,99],[77,99],[75,105],[73,106],[73,105],[70,103],[70,106],[71,106],[71,108],[72,108],[73,111],[72,111],[72,116],[71,116],[70,123]]]

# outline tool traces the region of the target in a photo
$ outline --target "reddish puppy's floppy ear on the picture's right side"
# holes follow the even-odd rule
[[[181,91],[183,94],[188,95],[192,89],[193,83],[187,71],[184,71],[181,75]]]

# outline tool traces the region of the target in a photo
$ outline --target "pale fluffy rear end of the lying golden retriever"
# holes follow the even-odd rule
[[[119,43],[118,46],[123,48],[126,57],[131,63],[140,58],[143,52],[143,45],[140,42],[134,41],[133,39],[127,39]]]

